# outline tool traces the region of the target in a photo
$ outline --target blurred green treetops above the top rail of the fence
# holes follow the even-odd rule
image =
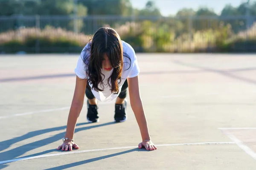
[[[74,5],[80,6],[80,16],[85,15],[121,15],[161,16],[153,0],[148,0],[144,8],[132,7],[130,0],[0,0],[0,16],[9,15],[73,15]],[[114,8],[113,8],[114,7]],[[221,16],[245,15],[247,3],[237,7],[227,4]],[[249,3],[251,15],[256,15],[256,2]],[[216,16],[211,8],[201,7],[197,11],[191,8],[180,9],[176,16]]]

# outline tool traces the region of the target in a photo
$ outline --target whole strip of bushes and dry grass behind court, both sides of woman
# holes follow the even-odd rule
[[[107,26],[107,25],[106,25]],[[127,22],[113,28],[137,52],[249,52],[256,51],[256,25],[234,34],[230,25],[191,33],[173,28],[173,22]],[[0,52],[80,53],[92,36],[61,28],[23,28],[0,34]]]

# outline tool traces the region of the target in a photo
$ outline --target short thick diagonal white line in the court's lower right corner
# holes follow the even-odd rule
[[[253,157],[253,159],[256,159],[256,153],[250,149],[250,147],[247,147],[243,142],[241,142],[239,139],[236,138],[236,136],[232,135],[227,129],[223,129],[222,132],[227,135],[233,142],[236,142],[236,144],[244,150],[248,155]]]

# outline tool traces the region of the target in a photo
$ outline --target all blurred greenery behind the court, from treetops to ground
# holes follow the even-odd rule
[[[247,9],[256,15],[256,2],[228,4],[220,15],[201,7],[163,17],[153,0],[141,9],[130,0],[0,0],[0,52],[80,52],[102,26],[139,52],[256,51],[255,18],[246,17]]]

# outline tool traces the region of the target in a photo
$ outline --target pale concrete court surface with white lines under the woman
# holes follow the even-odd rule
[[[0,56],[0,169],[256,169],[255,54],[137,54],[158,149],[137,149],[140,131],[129,102],[123,123],[113,123],[113,102],[100,102],[99,123],[87,123],[86,107],[81,111],[79,150],[58,151],[78,57]]]

